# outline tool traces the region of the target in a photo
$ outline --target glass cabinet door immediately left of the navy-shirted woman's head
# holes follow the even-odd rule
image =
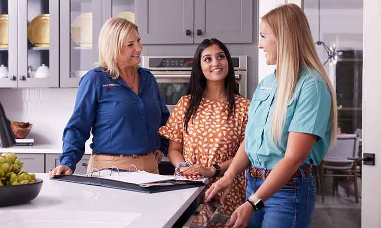
[[[60,87],[75,88],[98,62],[102,0],[60,1]]]

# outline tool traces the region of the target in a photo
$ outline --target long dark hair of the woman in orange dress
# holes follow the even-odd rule
[[[201,54],[206,48],[212,45],[217,45],[221,50],[223,50],[228,60],[229,71],[227,77],[225,78],[225,89],[228,95],[228,102],[224,110],[229,110],[228,120],[231,116],[234,115],[234,94],[239,95],[239,92],[235,83],[235,74],[232,57],[230,56],[228,48],[222,42],[215,38],[212,38],[210,40],[205,39],[196,49],[195,64],[193,65],[192,73],[190,74],[190,83],[187,91],[187,94],[190,94],[190,102],[189,106],[185,111],[184,120],[184,128],[186,133],[188,133],[188,122],[192,116],[195,117],[196,111],[200,106],[200,102],[203,97],[204,90],[206,88],[206,78],[201,69]]]

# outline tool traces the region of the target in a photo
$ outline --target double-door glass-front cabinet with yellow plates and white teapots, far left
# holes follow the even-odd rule
[[[59,86],[59,0],[0,0],[0,87]]]

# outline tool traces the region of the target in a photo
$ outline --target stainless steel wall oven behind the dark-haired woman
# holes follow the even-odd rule
[[[247,56],[232,56],[239,93],[246,97]],[[143,56],[142,67],[151,69],[170,111],[187,92],[194,58],[189,56]]]

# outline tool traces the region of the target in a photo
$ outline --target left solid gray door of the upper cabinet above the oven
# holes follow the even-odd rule
[[[135,5],[143,44],[193,44],[194,0],[139,0]]]

